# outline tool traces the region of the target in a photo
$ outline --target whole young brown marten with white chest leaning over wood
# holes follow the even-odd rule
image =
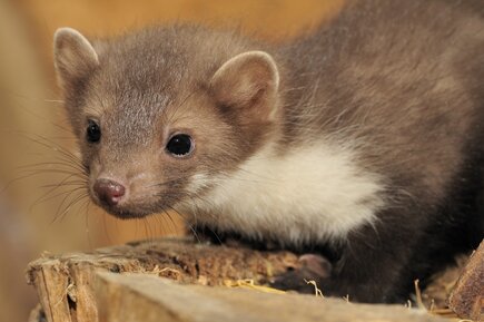
[[[290,42],[172,25],[55,35],[92,201],[299,252],[329,295],[399,302],[484,236],[484,3],[348,1]]]

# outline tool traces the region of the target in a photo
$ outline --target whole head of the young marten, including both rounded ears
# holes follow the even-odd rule
[[[175,33],[157,36],[92,46],[72,29],[56,33],[56,68],[91,198],[121,218],[203,198],[275,125],[270,56],[188,59],[197,52],[176,45]]]

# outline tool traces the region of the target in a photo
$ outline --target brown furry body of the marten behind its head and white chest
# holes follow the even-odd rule
[[[283,51],[302,88],[288,144],[353,140],[359,165],[385,177],[387,211],[354,238],[417,241],[407,281],[484,237],[483,12],[481,1],[356,1]]]

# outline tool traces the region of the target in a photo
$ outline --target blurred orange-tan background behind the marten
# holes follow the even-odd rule
[[[287,41],[340,6],[342,0],[0,0],[0,321],[27,321],[37,297],[24,270],[45,252],[184,234],[175,214],[119,222],[89,205],[67,165],[76,143],[52,68],[57,28],[109,36],[195,21]]]

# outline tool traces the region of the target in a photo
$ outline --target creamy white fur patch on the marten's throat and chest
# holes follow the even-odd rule
[[[372,224],[384,206],[379,176],[354,163],[352,150],[317,144],[285,156],[266,148],[234,174],[192,177],[192,188],[217,183],[194,207],[198,222],[285,244],[335,241]]]

